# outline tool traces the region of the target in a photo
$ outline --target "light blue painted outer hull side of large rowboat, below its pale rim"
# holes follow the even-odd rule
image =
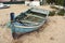
[[[12,32],[26,33],[26,32],[37,30],[38,28],[17,28],[17,27],[13,28],[11,27],[11,29],[12,29]]]

